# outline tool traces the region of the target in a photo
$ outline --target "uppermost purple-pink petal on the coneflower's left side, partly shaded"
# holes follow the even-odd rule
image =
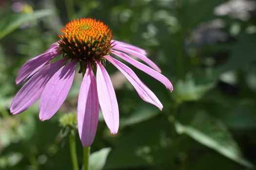
[[[38,72],[47,62],[54,57],[57,57],[62,52],[59,51],[59,46],[53,44],[45,53],[38,55],[28,60],[21,68],[16,78],[16,84],[24,82],[27,78]]]

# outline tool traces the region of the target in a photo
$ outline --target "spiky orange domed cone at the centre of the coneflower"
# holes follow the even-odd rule
[[[59,34],[59,46],[70,58],[79,61],[101,59],[109,54],[112,32],[103,22],[92,18],[81,18],[66,24]]]

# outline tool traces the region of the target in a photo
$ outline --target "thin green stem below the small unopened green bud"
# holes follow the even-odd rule
[[[75,135],[72,133],[69,134],[69,146],[70,146],[70,154],[71,154],[73,169],[79,170],[77,149],[76,149],[76,138],[75,138]]]

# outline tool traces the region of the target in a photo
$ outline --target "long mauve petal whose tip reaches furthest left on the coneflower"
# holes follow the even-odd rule
[[[37,102],[46,83],[66,61],[67,58],[65,57],[57,62],[49,64],[29,79],[14,97],[10,108],[11,113],[19,114]]]

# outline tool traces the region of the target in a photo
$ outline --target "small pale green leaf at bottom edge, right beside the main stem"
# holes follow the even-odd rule
[[[109,152],[111,151],[111,148],[103,148],[95,153],[92,153],[90,156],[90,170],[102,170]]]

